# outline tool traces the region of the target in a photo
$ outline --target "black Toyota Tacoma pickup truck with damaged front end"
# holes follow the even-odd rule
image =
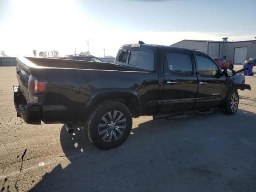
[[[83,125],[101,149],[128,138],[132,117],[183,117],[216,107],[233,115],[237,90],[250,89],[243,75],[222,71],[207,54],[144,43],[122,46],[114,64],[18,57],[16,72],[17,116],[28,124],[63,123],[68,132]]]

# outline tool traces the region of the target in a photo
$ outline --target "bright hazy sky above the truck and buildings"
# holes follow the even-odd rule
[[[183,39],[254,40],[256,0],[0,0],[0,50],[33,56],[89,51],[116,56],[123,44]]]

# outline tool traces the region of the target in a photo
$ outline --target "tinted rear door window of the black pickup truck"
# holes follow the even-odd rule
[[[190,54],[168,53],[167,65],[168,70],[171,72],[180,75],[193,74],[193,67]]]

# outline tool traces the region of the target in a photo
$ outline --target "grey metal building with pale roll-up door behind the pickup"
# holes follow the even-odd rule
[[[171,46],[198,50],[212,58],[222,57],[232,60],[235,64],[242,64],[246,59],[256,57],[256,40],[230,42],[228,37],[222,39],[223,41],[185,39]]]

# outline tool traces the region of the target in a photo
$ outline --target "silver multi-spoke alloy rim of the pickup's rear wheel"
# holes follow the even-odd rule
[[[98,134],[105,142],[113,142],[122,137],[126,129],[126,118],[118,110],[109,111],[98,124]]]

